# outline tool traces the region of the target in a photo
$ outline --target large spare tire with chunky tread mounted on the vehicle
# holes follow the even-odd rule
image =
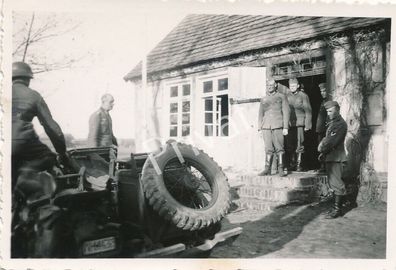
[[[160,153],[152,156],[157,162],[157,169],[161,172],[167,162],[177,158],[173,148],[175,142],[166,144]],[[193,209],[179,203],[166,189],[163,174],[158,174],[152,161],[147,158],[142,170],[142,186],[145,197],[152,208],[159,215],[183,230],[199,230],[219,222],[227,213],[230,205],[230,186],[228,179],[220,166],[202,150],[187,144],[177,143],[177,149],[183,158],[193,160],[205,170],[208,178],[212,179],[214,196],[210,205]],[[196,155],[196,153],[198,155]]]

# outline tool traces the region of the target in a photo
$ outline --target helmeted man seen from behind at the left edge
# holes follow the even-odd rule
[[[12,64],[12,186],[21,167],[36,171],[51,170],[56,154],[43,144],[32,120],[37,117],[50,138],[59,158],[66,160],[66,144],[61,128],[51,116],[43,97],[29,88],[33,72],[24,62]]]

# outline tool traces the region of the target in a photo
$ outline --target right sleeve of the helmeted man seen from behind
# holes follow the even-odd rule
[[[42,97],[37,102],[37,118],[43,126],[45,133],[50,138],[56,152],[58,154],[64,154],[66,152],[65,137],[58,123],[52,118],[47,103],[45,103]]]

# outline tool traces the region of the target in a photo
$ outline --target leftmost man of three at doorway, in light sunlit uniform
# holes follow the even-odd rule
[[[263,132],[266,151],[265,168],[259,175],[271,173],[273,154],[277,155],[278,172],[286,176],[284,170],[284,137],[288,133],[289,104],[284,94],[277,91],[278,84],[274,80],[267,81],[267,95],[260,101],[258,130]]]

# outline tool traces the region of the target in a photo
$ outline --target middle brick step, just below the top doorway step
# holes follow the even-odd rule
[[[241,186],[236,189],[238,199],[253,198],[263,201],[289,203],[294,201],[313,200],[315,192],[311,187],[290,188],[268,188],[263,186]],[[312,199],[311,199],[312,198]]]

